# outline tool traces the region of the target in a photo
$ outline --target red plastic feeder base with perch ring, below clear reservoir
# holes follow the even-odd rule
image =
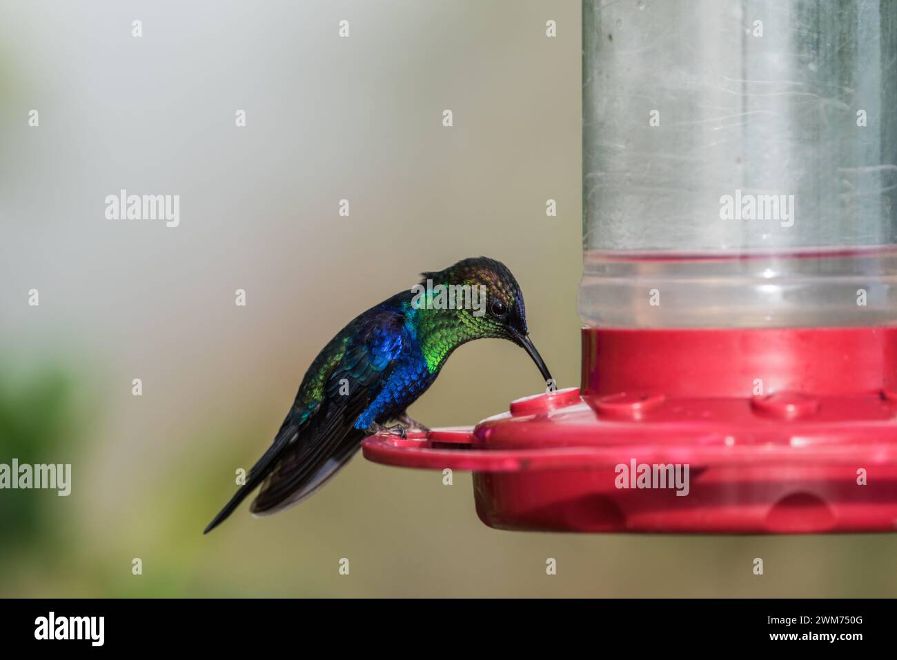
[[[374,436],[472,470],[500,529],[897,531],[897,328],[583,330],[583,387],[475,429]]]

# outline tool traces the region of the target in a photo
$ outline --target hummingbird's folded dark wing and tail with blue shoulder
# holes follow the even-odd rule
[[[257,516],[307,497],[353,456],[364,437],[354,423],[379,394],[407,345],[405,317],[395,309],[370,309],[334,341],[342,348],[329,354],[325,349],[312,364],[274,443],[206,532],[230,516],[259,482],[264,480],[251,507]],[[320,363],[326,365],[324,371],[312,373]],[[304,390],[318,389],[318,383],[320,391],[309,400]]]

